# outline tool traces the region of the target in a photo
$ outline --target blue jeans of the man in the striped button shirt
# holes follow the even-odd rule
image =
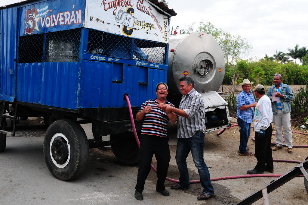
[[[189,174],[186,163],[188,153],[191,152],[193,161],[198,169],[203,193],[214,194],[214,188],[211,183],[209,169],[203,159],[204,133],[196,132],[190,138],[179,138],[176,145],[176,164],[180,172],[180,187],[188,189],[190,187]]]

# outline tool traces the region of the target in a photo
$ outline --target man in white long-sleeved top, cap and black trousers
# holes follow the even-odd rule
[[[259,101],[254,109],[253,128],[255,130],[255,152],[257,165],[254,169],[248,170],[247,174],[263,174],[264,171],[274,172],[271,139],[273,112],[270,98],[265,95],[265,88],[257,85],[254,88],[254,95]]]

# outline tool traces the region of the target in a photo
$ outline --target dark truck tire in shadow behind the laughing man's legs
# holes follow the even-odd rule
[[[110,135],[111,150],[117,160],[124,164],[132,165],[140,161],[139,147],[133,132]]]

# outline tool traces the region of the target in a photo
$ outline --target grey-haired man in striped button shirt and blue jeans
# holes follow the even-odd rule
[[[203,194],[197,197],[206,200],[214,195],[209,169],[203,159],[205,133],[205,107],[200,93],[195,89],[195,81],[190,76],[180,78],[182,99],[179,109],[165,106],[166,113],[174,112],[178,116],[178,132],[176,145],[176,164],[180,172],[179,183],[171,186],[172,189],[188,189],[190,187],[186,158],[191,152],[193,161],[198,169]]]

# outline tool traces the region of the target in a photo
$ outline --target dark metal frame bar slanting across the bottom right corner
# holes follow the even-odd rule
[[[308,180],[308,174],[306,172],[306,169],[308,169],[308,159],[303,161],[302,163],[298,164],[294,168],[292,168],[290,171],[288,171],[286,174],[282,175],[278,179],[276,179],[274,182],[266,185],[262,189],[258,190],[257,192],[253,193],[252,195],[248,196],[247,198],[243,199],[237,205],[248,205],[256,202],[257,200],[261,199],[263,197],[263,201],[268,198],[267,194],[274,191],[278,187],[282,186],[286,182],[289,182],[294,177],[297,177],[300,174],[303,174],[304,177]],[[264,193],[266,191],[266,194]],[[264,204],[269,204],[265,203]]]

